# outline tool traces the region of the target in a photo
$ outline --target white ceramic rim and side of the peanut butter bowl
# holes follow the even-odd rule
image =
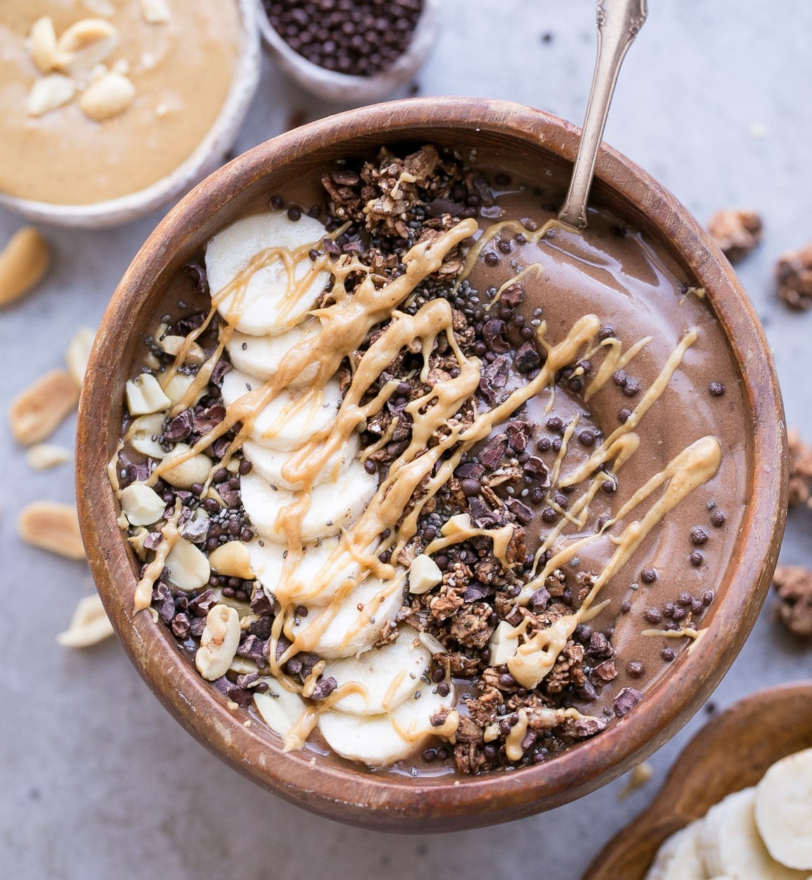
[[[180,165],[148,187],[104,202],[62,205],[0,193],[0,206],[43,223],[105,228],[128,223],[160,208],[199,182],[235,142],[259,84],[262,56],[257,5],[255,0],[236,0],[236,4],[240,13],[242,42],[231,84],[210,128]]]

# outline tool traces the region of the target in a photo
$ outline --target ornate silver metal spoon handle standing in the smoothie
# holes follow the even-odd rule
[[[558,215],[562,223],[578,229],[586,226],[586,202],[620,64],[647,14],[647,0],[598,0],[598,57],[569,192]]]

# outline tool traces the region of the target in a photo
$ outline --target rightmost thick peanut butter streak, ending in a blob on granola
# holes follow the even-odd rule
[[[719,470],[720,463],[721,446],[719,441],[713,436],[702,437],[688,446],[668,466],[663,468],[663,471],[652,477],[645,486],[634,493],[624,505],[625,512],[633,510],[663,482],[667,481],[663,495],[649,508],[642,520],[634,520],[623,530],[620,538],[613,539],[618,545],[617,549],[598,575],[589,595],[584,599],[584,604],[575,613],[559,618],[552,626],[540,630],[533,635],[532,639],[520,644],[516,655],[507,661],[508,670],[521,686],[533,688],[547,676],[555,665],[558,655],[569,641],[569,637],[575,632],[575,628],[584,614],[589,611],[592,602],[604,584],[631,558],[642,540],[669,510],[690,495],[695,488],[704,485],[707,480],[714,477]],[[620,514],[610,520],[610,523],[617,522],[619,518]],[[565,548],[562,554],[568,554],[570,548],[571,546]],[[555,556],[550,560],[550,563],[553,561],[555,561]],[[537,588],[544,582],[540,578],[536,578],[531,583],[535,584]],[[528,584],[525,589],[528,590],[530,586],[531,584]],[[518,633],[520,629],[520,634],[526,637],[524,631],[526,630],[526,621],[523,621],[514,632]]]

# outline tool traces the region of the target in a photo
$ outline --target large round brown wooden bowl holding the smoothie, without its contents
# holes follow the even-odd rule
[[[478,146],[538,163],[571,166],[579,130],[504,101],[396,101],[311,123],[260,144],[188,194],[158,225],[120,282],[98,331],[80,405],[77,491],[83,536],[107,612],[141,676],[192,735],[241,773],[324,816],[389,831],[491,825],[575,800],[654,752],[697,711],[733,662],[756,620],[787,512],[787,457],[779,388],[767,343],[736,275],[707,234],[656,180],[609,148],[598,158],[593,201],[669,242],[707,290],[730,340],[751,408],[750,504],[705,636],[683,651],[626,717],[545,764],[479,778],[373,774],[312,752],[282,754],[258,723],[244,727],[149,614],[133,614],[133,556],[116,524],[107,462],[120,436],[124,383],[156,321],[162,291],[207,239],[286,181],[326,161],[381,143]],[[159,314],[160,312],[158,312]]]

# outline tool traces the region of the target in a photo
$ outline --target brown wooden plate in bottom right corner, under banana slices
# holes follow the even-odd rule
[[[642,880],[663,840],[723,797],[755,785],[776,761],[812,747],[812,681],[734,703],[680,752],[654,801],[601,850],[584,880]]]

